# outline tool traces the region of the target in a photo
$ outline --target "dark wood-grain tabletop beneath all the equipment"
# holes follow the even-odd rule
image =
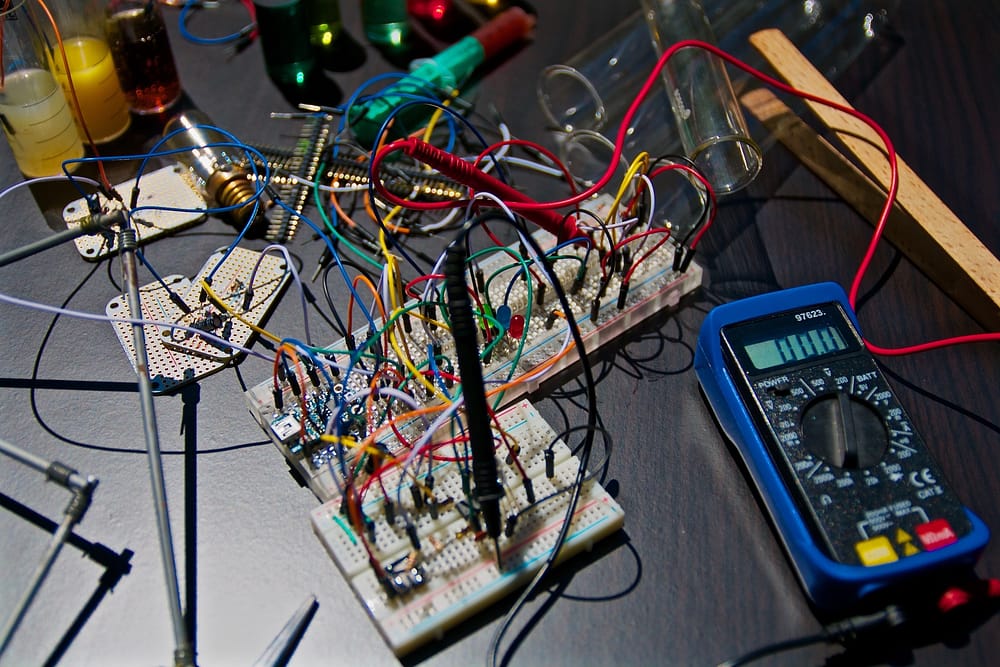
[[[342,4],[346,30],[363,42],[356,7]],[[497,106],[516,135],[547,142],[534,99],[540,67],[565,61],[634,8],[537,4],[534,42],[490,72],[478,94]],[[238,8],[218,11],[206,29],[214,26],[221,34],[240,24]],[[263,76],[259,46],[226,61],[219,48],[184,42],[175,29],[176,11],[166,14],[190,99],[237,136],[265,142],[274,136],[279,121],[268,120],[267,112],[291,107]],[[903,3],[894,24],[902,43],[889,55],[862,54],[841,88],[883,124],[916,172],[997,251],[1000,10],[994,3],[913,1]],[[334,75],[343,91],[389,68],[364,49],[363,66]],[[0,185],[6,186],[21,177],[6,146],[0,152]],[[33,197],[21,191],[2,202],[2,249],[58,228],[63,202],[47,192],[36,189]],[[820,280],[848,284],[869,232],[780,148],[768,152],[764,173],[747,194],[726,201],[699,255],[709,283],[702,296],[599,362],[598,398],[617,444],[608,479],[625,508],[625,528],[561,567],[528,604],[515,628],[532,625],[514,664],[715,664],[818,631],[774,532],[699,396],[692,350],[705,309],[717,300]],[[164,270],[192,275],[231,234],[213,219],[146,252]],[[312,267],[317,246],[300,235],[291,249]],[[112,262],[112,274],[118,266]],[[9,295],[103,312],[117,293],[107,273],[104,264],[85,263],[63,246],[0,270],[0,285]],[[981,330],[888,245],[877,255],[865,292],[861,322],[885,345]],[[295,301],[286,298],[272,324],[296,332],[301,315]],[[0,437],[97,476],[93,506],[77,533],[111,552],[134,552],[130,572],[114,582],[108,581],[113,567],[67,547],[3,663],[41,664],[65,648],[63,664],[167,664],[173,642],[138,397],[118,341],[105,323],[53,322],[49,314],[6,304],[0,305],[0,340]],[[1000,527],[998,361],[995,344],[883,360],[958,494],[994,529]],[[239,370],[250,384],[269,376],[260,361]],[[155,405],[182,600],[197,628],[199,664],[250,664],[310,592],[320,607],[292,664],[396,664],[312,535],[308,513],[316,500],[264,442],[246,412],[236,373],[226,370],[199,382],[196,391],[157,398]],[[558,417],[551,399],[540,405]],[[186,444],[197,455],[183,455]],[[60,515],[64,492],[7,460],[0,471],[4,496],[48,517]],[[0,535],[5,616],[47,537],[10,511],[0,512]],[[977,571],[1000,575],[995,540]],[[114,584],[103,597],[102,576]],[[508,604],[477,615],[406,662],[481,663]],[[837,647],[819,646],[765,664],[996,660],[995,617],[965,633],[933,630],[915,644],[883,636],[865,653],[841,655]]]

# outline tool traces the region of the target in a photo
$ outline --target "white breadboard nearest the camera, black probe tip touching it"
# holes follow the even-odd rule
[[[505,490],[501,511],[508,517],[508,529],[499,539],[503,569],[497,566],[492,541],[469,529],[462,511],[466,503],[462,478],[454,463],[435,464],[436,517],[426,502],[422,508],[415,506],[410,484],[401,482],[397,472],[385,476],[382,485],[369,487],[362,506],[374,523],[368,531],[375,538],[369,548],[398,579],[391,587],[375,575],[362,537],[341,513],[340,497],[312,512],[314,531],[397,656],[441,637],[448,628],[523,586],[556,546],[580,461],[527,400],[503,411],[498,420],[520,447],[518,456],[535,498],[549,498],[529,508],[520,472],[504,464],[500,453]],[[390,449],[399,451],[398,442]],[[545,463],[548,449],[551,477]],[[394,522],[386,518],[382,486],[394,505]],[[404,513],[413,518],[419,550],[404,530],[400,518]],[[517,515],[513,529],[511,515]],[[623,523],[624,512],[614,498],[595,480],[584,482],[560,559],[589,550]]]

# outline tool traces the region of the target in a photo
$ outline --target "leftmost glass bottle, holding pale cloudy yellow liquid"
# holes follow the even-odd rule
[[[23,3],[0,13],[0,30],[0,125],[14,160],[25,176],[61,174],[63,162],[83,157],[83,144],[49,70],[42,35]]]

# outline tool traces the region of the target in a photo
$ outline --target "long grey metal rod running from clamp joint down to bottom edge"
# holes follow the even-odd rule
[[[122,261],[122,275],[125,296],[133,318],[140,318],[142,307],[139,303],[139,277],[136,269],[136,233],[131,227],[119,231],[118,247]],[[177,563],[174,560],[174,542],[170,531],[170,514],[167,511],[167,493],[163,481],[163,462],[160,456],[159,432],[156,428],[156,412],[153,408],[153,387],[149,380],[149,358],[146,353],[146,334],[141,324],[132,325],[132,344],[135,347],[135,370],[139,383],[139,399],[142,408],[143,433],[146,439],[146,453],[149,461],[149,477],[153,489],[153,506],[156,509],[156,527],[159,533],[160,557],[163,561],[164,578],[167,584],[167,601],[170,605],[170,620],[174,630],[174,665],[193,666],[191,642],[181,613],[180,588],[177,583]]]

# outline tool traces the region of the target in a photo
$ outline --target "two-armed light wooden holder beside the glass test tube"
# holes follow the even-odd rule
[[[750,43],[790,85],[850,106],[778,30],[762,30]],[[848,204],[875,222],[885,202],[889,163],[878,135],[860,120],[815,102],[807,104],[864,170],[819,136],[770,91],[741,100],[789,150]],[[885,235],[969,315],[1000,330],[1000,261],[897,155],[899,192]]]

